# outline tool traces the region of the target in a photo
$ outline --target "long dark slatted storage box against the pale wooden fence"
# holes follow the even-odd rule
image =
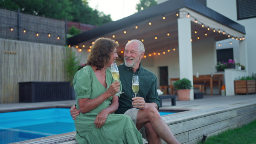
[[[19,82],[20,102],[70,100],[70,82]]]

